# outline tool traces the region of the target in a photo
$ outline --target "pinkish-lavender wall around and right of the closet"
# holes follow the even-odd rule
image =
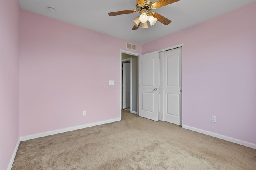
[[[184,44],[183,125],[256,144],[255,9],[256,2],[142,46],[144,54]]]

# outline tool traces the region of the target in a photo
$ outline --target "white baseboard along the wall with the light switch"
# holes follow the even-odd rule
[[[39,137],[55,135],[55,134],[58,134],[58,133],[74,131],[74,130],[83,129],[83,128],[86,128],[86,127],[103,125],[103,124],[112,123],[112,122],[115,122],[115,121],[120,121],[120,118],[110,119],[110,120],[106,120],[106,121],[99,121],[99,122],[95,122],[95,123],[89,123],[89,124],[79,125],[79,126],[74,126],[74,127],[68,127],[68,128],[64,128],[64,129],[58,129],[58,130],[48,131],[48,132],[43,132],[43,133],[37,133],[37,134],[34,134],[34,135],[28,135],[28,136],[20,137],[20,141],[26,141],[26,140],[30,140],[30,139],[36,139],[36,138],[39,138]]]

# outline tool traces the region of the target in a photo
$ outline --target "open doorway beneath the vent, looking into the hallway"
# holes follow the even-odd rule
[[[129,110],[130,113],[138,114],[138,56],[140,54],[132,53],[130,51],[120,51],[120,118],[121,118],[121,109]],[[125,63],[125,64],[124,64]],[[130,87],[127,88],[123,84],[123,64],[126,65],[126,67],[130,66]],[[130,65],[129,65],[130,64]],[[128,71],[129,72],[129,71]],[[126,74],[126,80],[129,79],[129,76]],[[126,84],[127,85],[127,84]],[[129,86],[129,83],[128,83]],[[129,91],[130,90],[130,91]],[[130,95],[128,95],[130,92]],[[130,97],[130,101],[129,101]],[[123,100],[123,98],[126,99],[126,101]],[[128,101],[127,101],[128,100]],[[124,104],[124,102],[126,102]],[[130,107],[129,106],[130,102]]]

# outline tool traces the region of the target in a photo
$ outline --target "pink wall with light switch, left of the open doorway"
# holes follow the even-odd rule
[[[20,137],[118,118],[126,42],[20,10]]]

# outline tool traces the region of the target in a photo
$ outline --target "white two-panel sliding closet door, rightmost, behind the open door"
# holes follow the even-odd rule
[[[182,47],[164,51],[164,121],[182,125]]]

